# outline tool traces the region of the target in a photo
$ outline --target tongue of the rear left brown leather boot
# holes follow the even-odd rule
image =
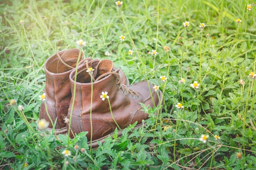
[[[79,57],[79,49],[70,49],[60,56],[57,64],[57,73],[64,73],[76,67],[76,62]],[[57,55],[57,54],[56,54]],[[83,52],[80,54],[80,60],[83,59]]]

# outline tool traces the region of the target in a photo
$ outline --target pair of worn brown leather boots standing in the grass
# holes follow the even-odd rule
[[[97,146],[97,141],[103,141],[108,135],[112,135],[118,126],[124,129],[135,121],[137,127],[141,126],[141,121],[147,119],[148,114],[141,110],[139,103],[151,108],[160,104],[162,92],[155,91],[152,84],[141,81],[129,85],[124,72],[113,67],[111,60],[82,58],[83,52],[70,49],[57,52],[45,62],[46,98],[40,106],[39,119],[56,121],[57,135],[66,134],[70,126],[71,138],[74,134],[88,131],[88,144],[92,133],[92,146]],[[76,71],[77,60],[79,64]],[[94,69],[92,75],[88,68]],[[102,92],[108,92],[112,115],[108,100],[103,101],[100,97]],[[50,123],[46,130],[51,132],[52,128]]]

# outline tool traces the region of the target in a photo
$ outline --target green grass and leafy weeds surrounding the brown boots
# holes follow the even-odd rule
[[[256,84],[249,77],[256,64],[256,12],[247,4],[252,2],[127,0],[121,8],[108,0],[0,2],[0,169],[256,169]],[[79,48],[79,39],[86,41],[85,57],[110,59],[131,84],[148,80],[164,92],[162,109],[144,106],[144,127],[131,125],[92,152],[86,132],[68,140],[36,130],[44,62],[56,51]],[[157,55],[150,55],[155,49]],[[160,82],[163,75],[166,82]],[[179,84],[181,78],[186,82]],[[194,81],[198,89],[191,88]],[[206,143],[202,134],[209,135]],[[67,148],[71,156],[64,157]]]

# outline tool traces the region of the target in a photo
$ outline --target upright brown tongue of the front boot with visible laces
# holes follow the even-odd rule
[[[93,73],[94,79],[97,79],[100,75],[111,72],[113,69],[113,66],[114,64],[111,60],[101,60]],[[103,77],[101,77],[100,79],[102,78]],[[97,81],[100,79],[97,79]]]

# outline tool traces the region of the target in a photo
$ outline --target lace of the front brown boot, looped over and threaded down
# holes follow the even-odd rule
[[[136,91],[134,91],[134,90],[128,88],[126,85],[121,84],[120,75],[119,75],[118,73],[116,73],[116,72],[104,73],[104,74],[100,75],[95,81],[97,81],[97,80],[99,80],[99,79],[101,79],[101,78],[103,78],[103,77],[106,77],[107,75],[110,75],[110,74],[117,76],[117,86],[119,86],[119,87],[118,87],[118,90],[121,89],[121,90],[123,91],[123,93],[126,94],[126,95],[129,95],[129,94],[130,94],[132,97],[134,97],[134,95],[136,95],[137,97],[139,97],[139,93],[137,93]]]

